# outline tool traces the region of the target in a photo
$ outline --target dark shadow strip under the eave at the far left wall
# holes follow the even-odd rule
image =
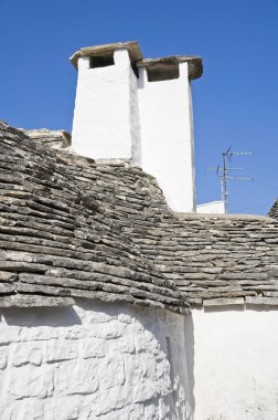
[[[20,327],[70,327],[82,321],[73,307],[10,307],[0,312],[7,325]]]

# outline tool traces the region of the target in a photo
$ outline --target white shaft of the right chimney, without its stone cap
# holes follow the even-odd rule
[[[193,129],[188,63],[180,77],[138,81],[142,169],[153,175],[174,211],[195,211]]]

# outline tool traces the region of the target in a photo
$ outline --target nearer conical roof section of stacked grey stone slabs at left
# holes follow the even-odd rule
[[[60,161],[6,124],[0,151],[0,306],[87,297],[186,312],[174,283],[99,207],[97,179],[78,181],[78,164]]]

